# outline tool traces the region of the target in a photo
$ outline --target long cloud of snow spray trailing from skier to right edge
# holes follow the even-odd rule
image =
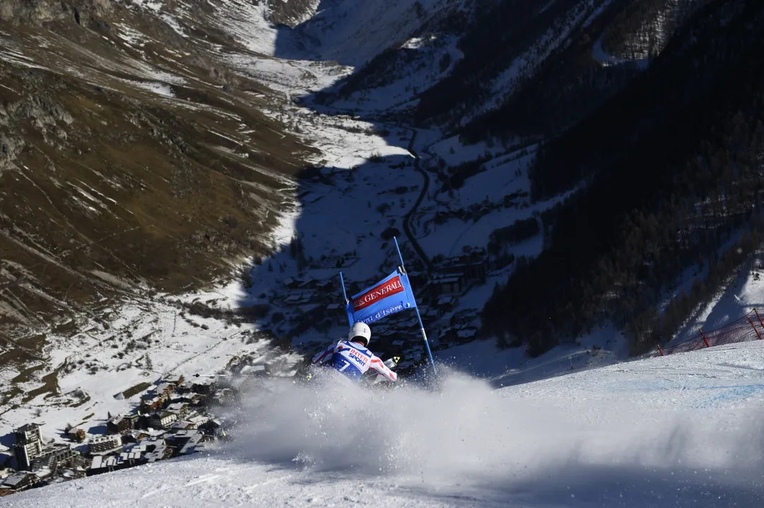
[[[246,398],[247,423],[225,455],[461,494],[531,488],[536,496],[536,484],[555,479],[545,487],[549,501],[555,490],[564,498],[595,482],[597,491],[609,483],[616,492],[761,477],[762,425],[753,414],[698,422],[695,413],[691,422],[611,401],[538,404],[532,388],[495,391],[455,373],[437,391],[412,384],[368,390],[333,377],[270,389]],[[645,502],[655,503],[652,496]]]

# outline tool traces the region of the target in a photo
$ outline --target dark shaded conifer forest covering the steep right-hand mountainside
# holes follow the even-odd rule
[[[611,95],[539,150],[534,199],[585,189],[544,215],[548,248],[485,307],[500,345],[520,338],[540,354],[614,322],[641,354],[672,338],[764,239],[761,2],[704,2]],[[549,114],[538,125],[559,120]],[[471,128],[513,125],[492,115]],[[694,282],[679,290],[687,273]]]

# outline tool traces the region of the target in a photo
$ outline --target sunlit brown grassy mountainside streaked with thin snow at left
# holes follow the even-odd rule
[[[293,194],[307,148],[258,111],[267,90],[146,18],[109,21],[167,38],[0,24],[0,337],[219,277],[267,251]]]

